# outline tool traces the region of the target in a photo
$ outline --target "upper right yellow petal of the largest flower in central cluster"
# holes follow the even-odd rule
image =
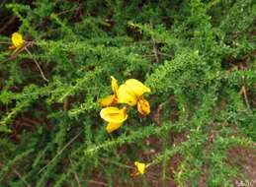
[[[135,94],[140,97],[144,93],[150,93],[150,89],[144,86],[141,82],[135,79],[128,79],[125,83],[126,86]]]

